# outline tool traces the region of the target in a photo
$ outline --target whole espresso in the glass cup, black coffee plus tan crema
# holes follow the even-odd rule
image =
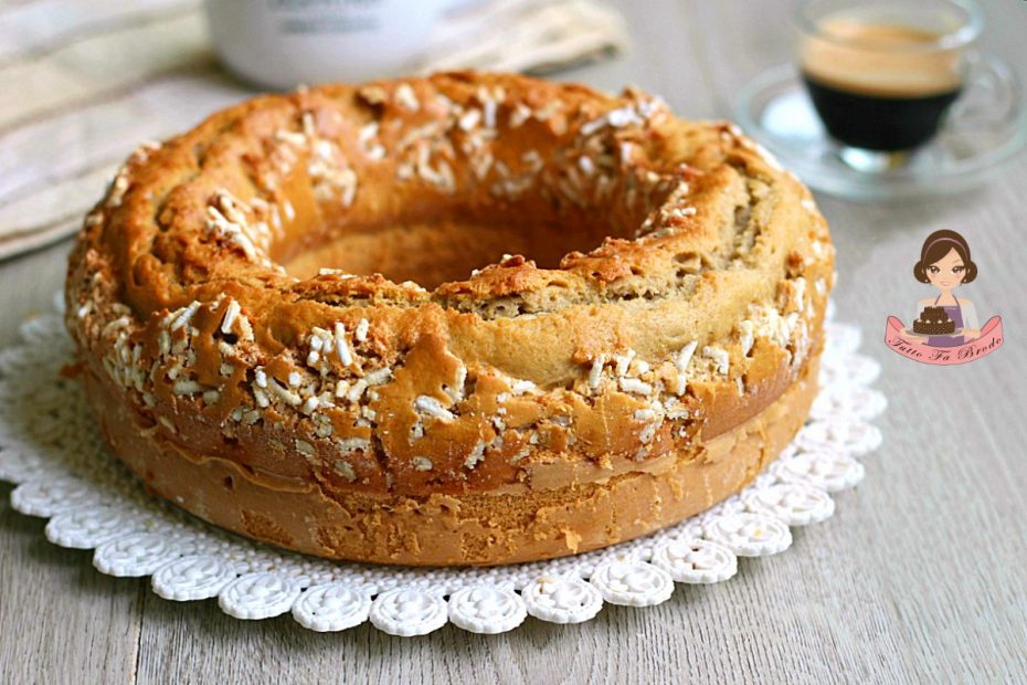
[[[827,131],[853,147],[910,150],[960,96],[960,54],[909,27],[832,19],[804,40],[803,81]]]

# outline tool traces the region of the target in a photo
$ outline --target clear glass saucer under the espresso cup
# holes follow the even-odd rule
[[[815,190],[851,200],[951,194],[986,182],[998,162],[1027,139],[1015,76],[995,57],[981,60],[997,80],[967,84],[967,95],[952,107],[939,135],[898,167],[881,171],[859,171],[843,160],[844,146],[828,137],[792,64],[772,68],[743,88],[735,117],[747,134]],[[977,94],[970,98],[972,86]],[[1006,110],[989,116],[999,99],[1006,101]]]

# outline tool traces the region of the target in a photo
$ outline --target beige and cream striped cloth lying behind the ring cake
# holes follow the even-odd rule
[[[592,0],[488,0],[423,71],[544,71],[626,48]],[[199,0],[0,0],[0,260],[74,233],[141,141],[252,95],[218,65]]]

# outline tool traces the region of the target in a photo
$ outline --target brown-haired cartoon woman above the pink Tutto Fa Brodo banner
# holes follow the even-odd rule
[[[917,315],[920,316],[924,307],[944,307],[961,335],[914,334],[911,337],[925,337],[931,347],[955,347],[981,336],[974,304],[953,294],[960,284],[977,277],[977,265],[970,259],[970,245],[962,235],[949,230],[934,231],[928,235],[920,250],[920,261],[913,266],[913,276],[920,283],[930,283],[940,291],[938,297],[920,301]]]

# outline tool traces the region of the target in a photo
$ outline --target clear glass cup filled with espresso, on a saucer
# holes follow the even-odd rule
[[[901,165],[938,135],[983,28],[970,0],[806,0],[795,18],[813,106],[861,170]]]

